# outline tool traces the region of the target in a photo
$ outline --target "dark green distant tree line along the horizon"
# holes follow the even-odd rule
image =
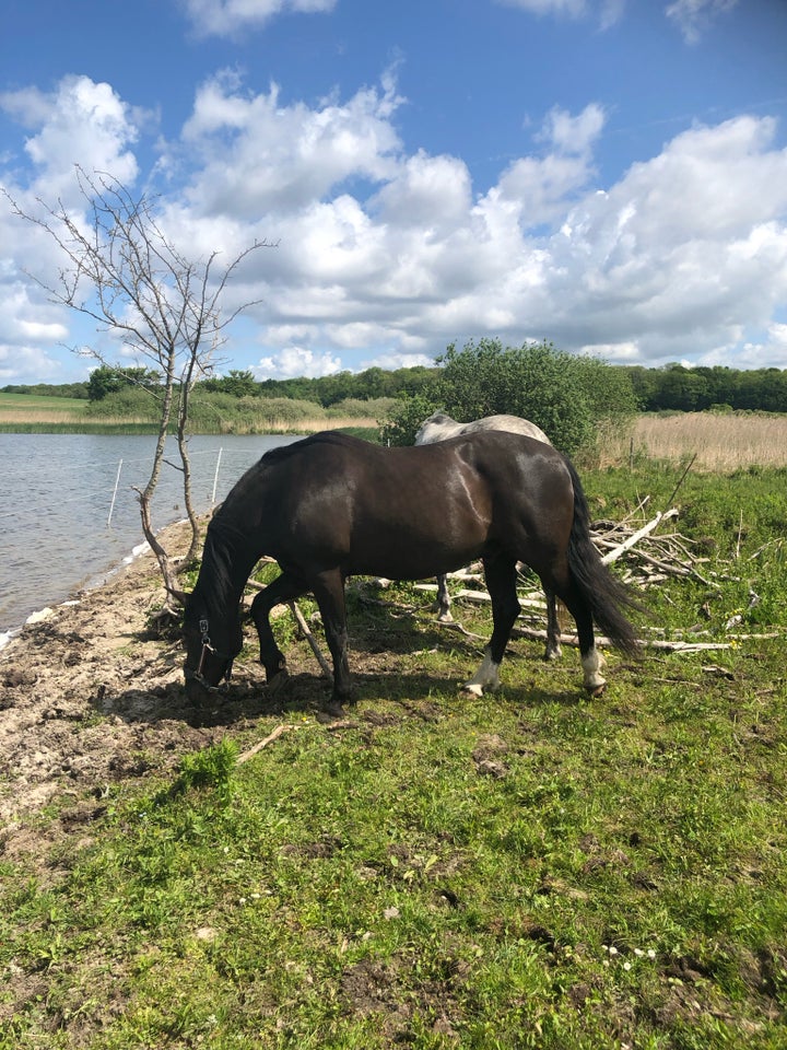
[[[510,348],[503,348],[497,340],[481,340],[478,345],[469,343],[468,346],[480,348],[478,353],[471,353],[467,359],[471,369],[483,366],[495,370],[508,360],[503,351]],[[449,347],[441,359],[441,364],[435,368],[415,366],[392,371],[372,368],[357,373],[338,372],[334,375],[315,378],[301,376],[292,380],[258,381],[250,371],[232,370],[226,375],[202,380],[196,385],[196,390],[205,394],[225,394],[232,397],[312,401],[322,408],[331,408],[350,399],[364,401],[377,398],[422,398],[430,404],[435,400],[444,402],[446,373],[450,374],[451,358],[458,353],[455,347]],[[589,359],[576,358],[567,353],[561,354],[557,351],[554,353],[559,354],[557,363],[561,368],[569,365],[573,361],[579,362],[580,369],[594,366],[592,362],[587,364]],[[543,360],[552,363],[553,357]],[[510,364],[509,360],[508,364]],[[681,364],[668,364],[659,369],[647,369],[642,365],[607,365],[606,369],[609,370],[604,372],[606,375],[619,373],[621,381],[625,377],[631,383],[636,407],[643,412],[697,412],[707,409],[787,412],[787,370],[744,370],[720,365],[685,368]],[[468,388],[470,388],[473,383],[473,373],[471,372],[467,378]],[[533,376],[531,381],[532,378]],[[82,383],[12,384],[1,387],[0,392],[99,401],[124,388],[150,389],[154,388],[158,382],[160,377],[150,369],[119,370],[102,365]],[[519,394],[515,388],[508,388],[506,392],[504,383],[500,385],[497,395],[497,400],[494,402],[496,411],[527,415],[517,411]],[[483,405],[489,409],[492,401],[489,398],[483,404],[482,399],[477,400],[475,411],[484,415]],[[449,410],[447,404],[441,404],[441,407]],[[469,405],[468,411],[470,411]],[[490,411],[485,413],[490,415]],[[533,419],[533,422],[538,420]]]

